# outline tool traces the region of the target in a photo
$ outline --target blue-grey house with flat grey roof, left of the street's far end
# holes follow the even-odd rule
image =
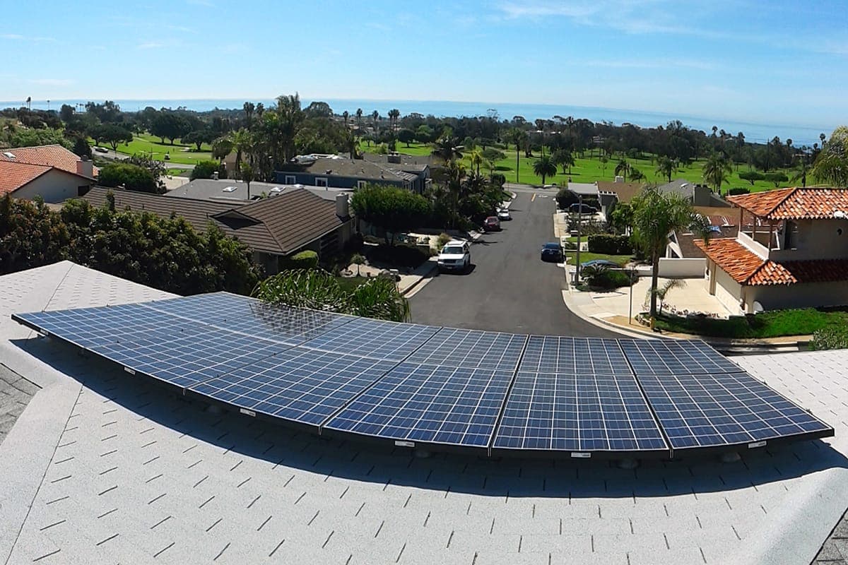
[[[332,186],[355,189],[367,183],[423,193],[432,183],[427,163],[374,163],[338,156],[302,155],[276,171],[276,181],[286,185]]]

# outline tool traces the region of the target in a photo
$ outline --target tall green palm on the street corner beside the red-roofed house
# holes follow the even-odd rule
[[[692,204],[677,192],[661,193],[649,186],[633,198],[633,242],[650,258],[650,315],[656,316],[656,290],[660,258],[665,256],[668,235],[698,222]],[[704,231],[705,239],[709,232]]]

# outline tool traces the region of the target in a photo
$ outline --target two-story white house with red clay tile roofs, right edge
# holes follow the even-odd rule
[[[738,235],[697,241],[711,294],[739,313],[848,304],[848,190],[786,188],[728,201]]]

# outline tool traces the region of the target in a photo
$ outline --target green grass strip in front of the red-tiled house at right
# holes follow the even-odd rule
[[[655,326],[663,331],[732,339],[810,335],[830,325],[845,324],[848,324],[848,312],[816,308],[774,310],[731,319],[684,318],[663,313],[657,316],[655,322]]]

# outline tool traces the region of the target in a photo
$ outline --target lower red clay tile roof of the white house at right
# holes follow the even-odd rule
[[[777,263],[763,259],[734,239],[697,240],[708,258],[741,285],[794,285],[848,280],[848,259],[812,259]]]

